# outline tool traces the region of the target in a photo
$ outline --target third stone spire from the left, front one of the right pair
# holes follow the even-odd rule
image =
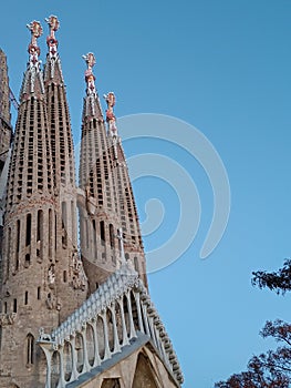
[[[121,264],[117,187],[114,184],[106,127],[95,86],[93,53],[83,55],[86,95],[83,104],[79,198],[81,252],[90,290],[103,283]]]

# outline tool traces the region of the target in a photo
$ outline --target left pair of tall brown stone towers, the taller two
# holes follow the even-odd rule
[[[52,19],[50,23],[53,29]],[[51,30],[43,80],[38,47],[42,28],[37,21],[28,27],[32,39],[3,226],[1,387],[9,386],[11,376],[21,387],[41,386],[40,327],[52,330],[87,296],[76,248],[73,145],[60,59],[52,53]]]

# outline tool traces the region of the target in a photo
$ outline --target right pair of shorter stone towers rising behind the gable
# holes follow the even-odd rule
[[[80,187],[84,193],[80,197],[81,252],[91,292],[116,270],[123,259],[134,264],[147,286],[138,216],[113,112],[115,95],[113,92],[104,95],[106,131],[93,74],[95,58],[89,53],[84,59],[87,88],[80,159]]]

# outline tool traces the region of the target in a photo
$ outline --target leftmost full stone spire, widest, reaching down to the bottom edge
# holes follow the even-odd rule
[[[9,387],[11,376],[21,387],[41,381],[38,369],[41,363],[35,364],[39,327],[44,316],[48,328],[59,324],[52,159],[37,41],[42,28],[37,21],[28,27],[29,62],[21,89],[3,225],[1,387]]]

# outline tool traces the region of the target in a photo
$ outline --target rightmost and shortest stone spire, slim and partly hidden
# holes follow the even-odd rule
[[[124,237],[124,253],[126,259],[133,263],[135,269],[138,272],[147,287],[146,263],[141,226],[128,169],[114,114],[115,95],[113,92],[110,92],[104,95],[104,99],[107,103],[107,142],[113,165],[113,180],[115,187],[118,187],[118,218],[121,221]]]

